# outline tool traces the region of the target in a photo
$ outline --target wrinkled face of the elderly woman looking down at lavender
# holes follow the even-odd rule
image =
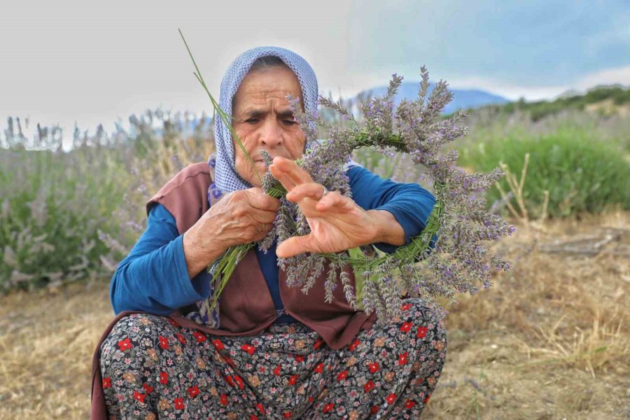
[[[271,67],[248,72],[232,100],[232,126],[260,176],[267,170],[260,151],[293,160],[304,153],[306,136],[293,120],[288,94],[302,99],[297,76],[288,67]],[[251,164],[234,143],[237,173],[252,186],[260,187]]]

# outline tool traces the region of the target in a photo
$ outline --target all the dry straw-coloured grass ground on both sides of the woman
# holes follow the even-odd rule
[[[629,229],[630,214],[548,221],[497,246],[510,274],[447,319],[449,351],[423,419],[629,419],[630,232],[596,257],[537,244]],[[84,419],[107,281],[0,298],[0,419]]]

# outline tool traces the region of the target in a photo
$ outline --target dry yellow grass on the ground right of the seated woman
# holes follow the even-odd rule
[[[627,230],[596,257],[536,244]],[[630,214],[547,222],[498,244],[510,274],[447,318],[449,351],[424,419],[629,419]]]

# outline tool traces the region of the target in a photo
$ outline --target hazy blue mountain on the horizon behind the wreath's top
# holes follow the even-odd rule
[[[435,87],[434,83],[429,86],[429,92]],[[395,96],[395,104],[400,103],[402,99],[410,101],[415,100],[418,97],[418,90],[420,88],[419,82],[403,82],[398,88],[398,93]],[[453,93],[453,100],[447,104],[444,109],[444,113],[453,113],[458,109],[477,108],[485,105],[500,105],[510,102],[504,97],[500,97],[496,94],[485,92],[484,90],[476,89],[451,89]],[[358,97],[381,97],[387,92],[387,86],[373,87],[372,89],[364,90],[358,94]]]

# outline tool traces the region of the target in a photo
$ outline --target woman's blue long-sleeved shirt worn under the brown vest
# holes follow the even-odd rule
[[[393,214],[405,231],[406,243],[423,230],[435,204],[435,198],[426,189],[414,183],[381,179],[363,167],[352,167],[347,174],[356,204],[365,210]],[[209,297],[210,276],[206,270],[193,279],[188,277],[182,238],[172,214],[162,204],[153,206],[145,232],[111,279],[110,297],[116,314],[132,310],[165,315]],[[384,243],[375,245],[388,253],[397,248]],[[275,245],[266,254],[256,247],[256,255],[276,310],[283,309]],[[289,315],[276,319],[276,323],[295,321]]]

